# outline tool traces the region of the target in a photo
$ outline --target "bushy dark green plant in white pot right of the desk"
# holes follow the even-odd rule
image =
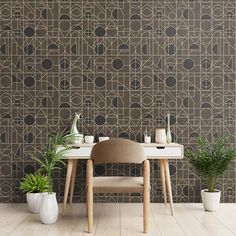
[[[236,149],[227,147],[228,137],[218,138],[212,144],[202,137],[197,139],[197,150],[187,150],[185,156],[196,169],[207,189],[201,191],[206,211],[216,211],[220,204],[221,191],[216,189],[217,178],[223,175],[236,156]]]

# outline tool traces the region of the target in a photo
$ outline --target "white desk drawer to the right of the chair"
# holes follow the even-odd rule
[[[182,147],[144,147],[147,157],[179,157],[183,158]]]

